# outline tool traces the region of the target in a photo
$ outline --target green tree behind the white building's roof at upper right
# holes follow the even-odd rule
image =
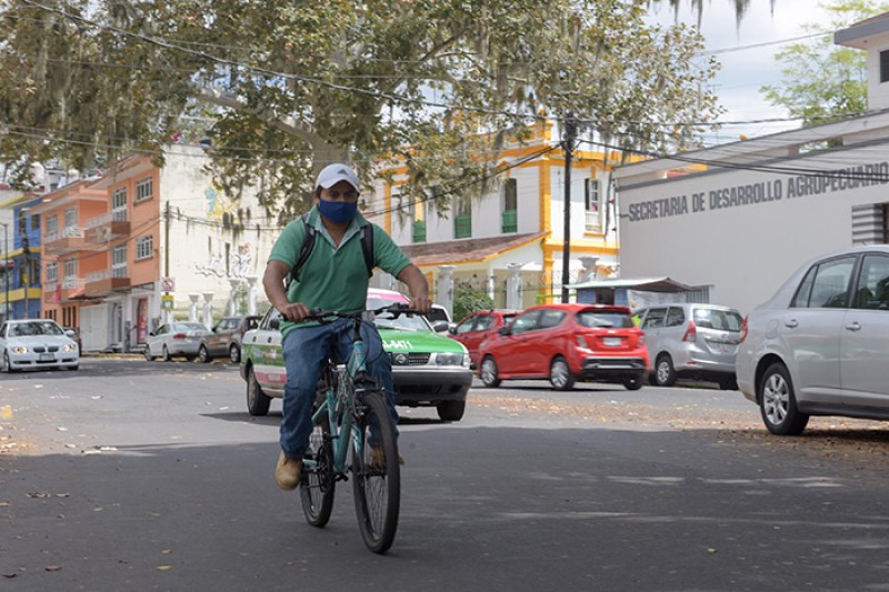
[[[847,28],[880,12],[889,3],[869,0],[831,0],[821,4],[830,11],[828,26],[806,26],[810,33],[827,33]],[[760,89],[766,99],[785,107],[803,126],[842,119],[867,110],[867,53],[833,44],[832,36],[820,36],[791,43],[775,54],[783,64],[783,80]]]

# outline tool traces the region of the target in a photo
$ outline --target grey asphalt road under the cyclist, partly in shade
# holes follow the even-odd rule
[[[402,410],[402,506],[368,552],[350,483],[307,525],[280,402],[234,367],[0,375],[0,590],[889,590],[885,424],[769,437],[736,391],[473,389]],[[10,413],[11,412],[11,413]]]

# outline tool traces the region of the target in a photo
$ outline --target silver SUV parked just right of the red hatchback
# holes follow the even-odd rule
[[[653,368],[651,384],[672,387],[677,378],[690,378],[716,381],[722,390],[738,388],[735,357],[743,319],[737,310],[681,302],[637,314]]]

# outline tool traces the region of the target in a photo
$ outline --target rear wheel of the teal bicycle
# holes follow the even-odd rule
[[[330,520],[337,485],[333,476],[333,445],[330,441],[327,415],[320,423],[314,424],[309,437],[309,448],[306,449],[302,459],[302,478],[299,484],[302,513],[306,514],[309,524],[320,529]]]

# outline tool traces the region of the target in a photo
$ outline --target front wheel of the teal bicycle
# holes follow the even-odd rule
[[[383,393],[363,397],[352,441],[352,490],[358,525],[364,544],[374,553],[392,546],[401,504],[401,471],[396,428]]]

